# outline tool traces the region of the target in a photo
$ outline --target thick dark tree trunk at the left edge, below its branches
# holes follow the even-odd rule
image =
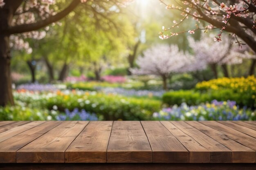
[[[0,106],[14,104],[11,89],[9,36],[0,34]]]

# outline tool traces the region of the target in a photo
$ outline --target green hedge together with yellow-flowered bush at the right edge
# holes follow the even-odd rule
[[[256,78],[220,78],[198,83],[195,91],[171,91],[163,95],[163,102],[169,105],[186,102],[198,105],[202,102],[232,100],[239,106],[256,108]]]

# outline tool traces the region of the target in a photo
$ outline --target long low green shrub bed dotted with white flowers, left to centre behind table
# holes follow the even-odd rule
[[[14,93],[16,101],[26,107],[48,110],[86,110],[101,120],[148,120],[160,109],[161,102],[154,99],[137,99],[120,95],[85,91],[57,91],[54,93]]]

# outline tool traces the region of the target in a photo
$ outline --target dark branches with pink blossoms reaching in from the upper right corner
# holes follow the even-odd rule
[[[174,1],[175,4],[169,4],[168,0],[160,1],[166,9],[179,11],[181,17],[179,21],[173,21],[169,28],[163,26],[159,38],[166,39],[180,33],[193,34],[198,30],[207,32],[210,29],[217,29],[220,32],[213,36],[212,40],[221,42],[224,36],[228,36],[225,32],[229,32],[239,46],[246,43],[256,53],[256,0],[178,0]],[[182,31],[178,29],[182,23],[191,19],[196,22],[194,27]],[[205,26],[204,23],[209,25]],[[256,59],[253,59],[251,68],[255,67]]]

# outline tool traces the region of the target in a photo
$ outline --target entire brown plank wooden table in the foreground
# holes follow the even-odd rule
[[[256,121],[0,121],[0,169],[256,170]]]

